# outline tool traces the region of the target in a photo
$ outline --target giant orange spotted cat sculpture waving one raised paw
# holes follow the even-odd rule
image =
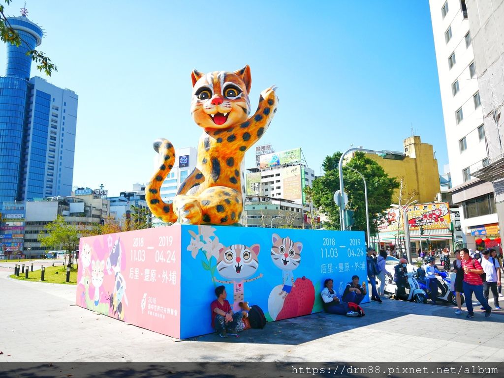
[[[203,134],[194,171],[180,185],[173,203],[161,199],[160,188],[173,168],[175,150],[166,139],[154,142],[160,166],[146,187],[152,213],[165,222],[190,224],[237,223],[245,196],[243,157],[268,129],[277,110],[276,88],[261,93],[250,117],[250,68],[192,73],[191,113]],[[247,118],[248,117],[248,118]]]

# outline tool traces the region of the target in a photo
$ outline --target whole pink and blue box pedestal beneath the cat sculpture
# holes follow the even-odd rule
[[[322,311],[324,280],[339,296],[367,281],[363,232],[180,225],[82,238],[78,306],[176,338],[213,332],[224,285],[268,321]],[[365,298],[365,301],[368,299]]]

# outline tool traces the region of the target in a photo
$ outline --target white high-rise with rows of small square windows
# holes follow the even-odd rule
[[[469,248],[498,236],[493,187],[471,176],[488,164],[483,112],[465,0],[429,0],[448,145],[452,198]]]

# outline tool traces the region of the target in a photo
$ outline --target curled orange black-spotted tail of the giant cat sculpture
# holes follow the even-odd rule
[[[173,204],[163,202],[161,199],[161,185],[168,176],[175,162],[175,148],[166,139],[160,138],[154,141],[154,149],[159,154],[161,166],[152,176],[151,181],[145,188],[145,199],[149,203],[152,213],[164,222],[175,222],[176,214],[173,212]]]

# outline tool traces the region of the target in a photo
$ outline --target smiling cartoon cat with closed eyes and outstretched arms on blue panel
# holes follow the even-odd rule
[[[224,278],[230,281],[221,281],[220,283],[233,284],[233,311],[240,310],[239,303],[244,301],[243,283],[255,281],[263,276],[263,273],[255,278],[247,279],[253,276],[259,267],[259,244],[247,247],[243,244],[233,244],[229,247],[221,248],[219,258],[217,259],[217,271]]]

